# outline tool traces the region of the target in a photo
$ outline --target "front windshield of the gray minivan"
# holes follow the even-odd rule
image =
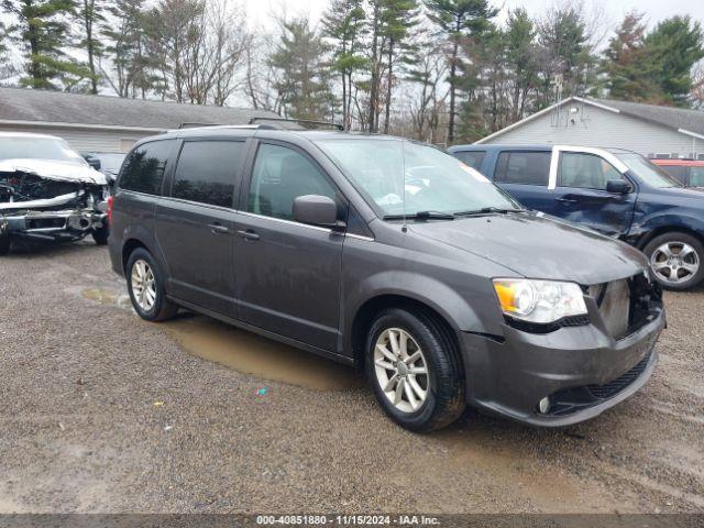
[[[375,138],[318,140],[316,144],[385,218],[452,219],[463,213],[520,210],[480,173],[435,146]]]

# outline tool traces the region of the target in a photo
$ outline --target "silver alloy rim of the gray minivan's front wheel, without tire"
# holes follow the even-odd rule
[[[382,392],[402,413],[415,413],[426,402],[428,363],[407,331],[389,328],[381,333],[374,346],[374,371]]]

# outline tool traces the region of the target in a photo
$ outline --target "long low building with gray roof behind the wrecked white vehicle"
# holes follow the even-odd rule
[[[128,152],[138,140],[193,124],[246,124],[266,110],[0,88],[0,131],[64,138],[79,152]]]

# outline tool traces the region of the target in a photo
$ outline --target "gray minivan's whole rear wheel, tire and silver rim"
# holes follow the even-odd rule
[[[173,318],[178,306],[166,298],[164,274],[143,248],[132,252],[127,266],[128,292],[134,311],[146,321],[165,321]]]

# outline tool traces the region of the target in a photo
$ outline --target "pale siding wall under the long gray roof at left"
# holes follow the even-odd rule
[[[46,124],[0,124],[0,132],[31,132],[51,134],[63,138],[78,152],[129,152],[130,147],[142,138],[153,135],[147,132],[125,130],[95,130],[81,128],[51,127]]]

